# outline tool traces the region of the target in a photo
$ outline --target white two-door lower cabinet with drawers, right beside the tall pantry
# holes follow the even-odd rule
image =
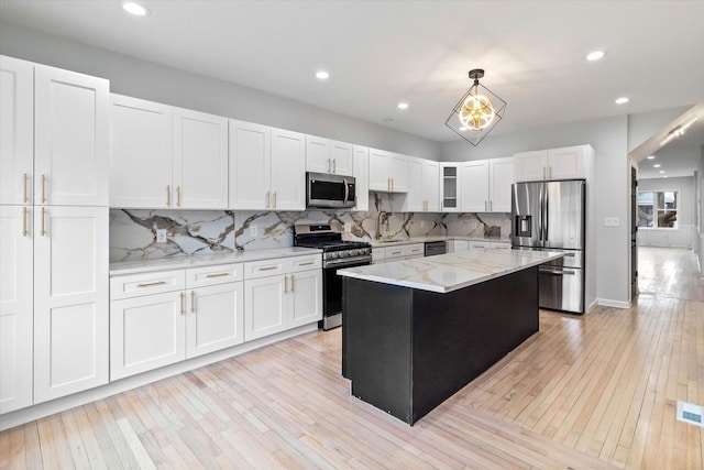
[[[242,264],[114,276],[110,380],[240,345]]]

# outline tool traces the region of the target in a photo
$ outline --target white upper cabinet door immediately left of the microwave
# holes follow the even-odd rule
[[[272,129],[272,201],[275,210],[306,209],[305,135]]]

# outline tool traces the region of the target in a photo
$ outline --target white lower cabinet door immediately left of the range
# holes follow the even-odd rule
[[[295,328],[322,319],[322,271],[304,271],[288,275],[288,295],[293,308],[288,327]]]

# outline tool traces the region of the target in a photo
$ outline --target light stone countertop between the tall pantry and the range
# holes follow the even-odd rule
[[[288,247],[270,250],[238,251],[235,253],[196,254],[160,260],[124,261],[110,263],[110,275],[138,274],[152,271],[183,270],[202,267],[216,264],[245,263],[249,261],[272,260],[276,258],[300,256],[302,254],[318,254],[321,250]]]

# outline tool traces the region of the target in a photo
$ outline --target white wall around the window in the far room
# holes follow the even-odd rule
[[[638,229],[638,245],[641,247],[695,247],[694,210],[696,195],[694,177],[640,179],[638,190],[678,190],[680,192],[678,208],[678,229]]]

